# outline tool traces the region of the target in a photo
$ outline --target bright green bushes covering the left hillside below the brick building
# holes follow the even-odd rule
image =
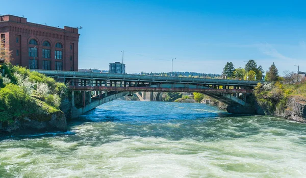
[[[60,112],[68,96],[64,84],[24,67],[4,64],[0,68],[6,73],[0,77],[0,122]]]

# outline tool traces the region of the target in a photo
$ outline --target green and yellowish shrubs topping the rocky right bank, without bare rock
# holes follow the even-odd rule
[[[254,89],[254,94],[258,104],[264,108],[268,114],[284,110],[290,96],[299,95],[306,98],[306,83],[281,84],[259,83]]]

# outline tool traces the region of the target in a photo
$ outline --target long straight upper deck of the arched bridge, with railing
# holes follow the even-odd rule
[[[59,70],[36,70],[36,71],[46,74],[48,77],[64,78],[64,79],[138,81],[138,82],[156,82],[156,83],[158,82],[185,83],[185,84],[231,85],[231,86],[256,86],[258,83],[260,83],[259,81],[162,77],[156,75],[92,73],[92,72],[59,71]]]

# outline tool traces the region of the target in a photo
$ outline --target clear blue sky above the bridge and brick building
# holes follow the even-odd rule
[[[79,67],[221,73],[226,62],[306,71],[303,1],[4,1],[0,14],[80,27]]]

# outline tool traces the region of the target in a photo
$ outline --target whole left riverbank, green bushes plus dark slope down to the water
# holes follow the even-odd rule
[[[11,64],[0,69],[5,71],[0,77],[0,132],[67,130],[70,103],[63,83]]]

